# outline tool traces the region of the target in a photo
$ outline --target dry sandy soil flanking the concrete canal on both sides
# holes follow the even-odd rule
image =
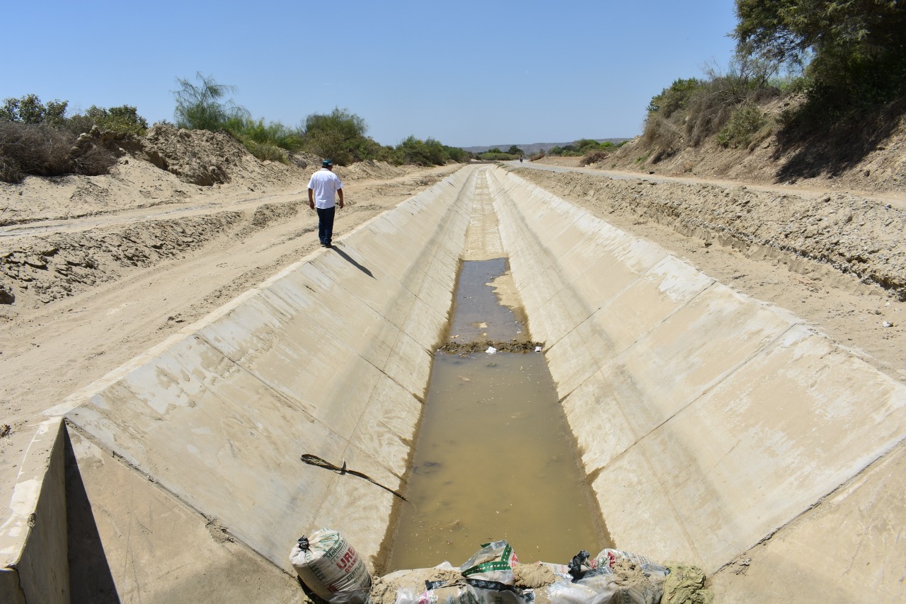
[[[45,408],[320,249],[313,158],[261,163],[231,139],[175,130],[124,151],[109,176],[0,183],[0,518]],[[458,168],[337,168],[337,235]],[[509,169],[906,383],[906,197],[890,187]]]

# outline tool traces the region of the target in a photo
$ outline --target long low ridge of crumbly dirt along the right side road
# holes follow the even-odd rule
[[[520,170],[541,187],[602,201],[608,213],[670,225],[753,257],[804,258],[906,300],[906,211],[849,193],[797,195],[653,179]],[[832,273],[828,273],[832,274]]]

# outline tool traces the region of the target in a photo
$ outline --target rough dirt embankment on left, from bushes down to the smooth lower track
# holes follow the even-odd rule
[[[288,220],[307,209],[304,187],[317,159],[261,162],[226,132],[169,126],[106,144],[121,156],[110,175],[0,183],[0,304],[53,302],[217,237],[242,239]],[[350,182],[410,171],[378,162],[336,169]],[[268,201],[260,195],[287,187],[299,196]],[[351,211],[364,209],[355,205],[352,199]]]

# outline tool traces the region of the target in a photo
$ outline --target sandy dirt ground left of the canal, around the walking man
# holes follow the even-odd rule
[[[321,250],[306,192],[313,168],[274,168],[254,184],[234,177],[215,187],[187,185],[134,159],[120,168],[116,177],[0,183],[0,208],[41,202],[24,221],[0,226],[0,285],[15,295],[0,304],[0,426],[8,426],[0,437],[0,518],[44,409]],[[346,207],[334,235],[458,168],[336,168]],[[66,219],[72,196],[86,189],[108,203],[83,201],[80,217]]]

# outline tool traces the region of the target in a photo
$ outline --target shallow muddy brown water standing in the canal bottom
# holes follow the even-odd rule
[[[506,259],[463,263],[450,337],[526,340],[489,286]],[[387,570],[506,539],[520,561],[566,563],[611,546],[541,353],[437,352]]]

